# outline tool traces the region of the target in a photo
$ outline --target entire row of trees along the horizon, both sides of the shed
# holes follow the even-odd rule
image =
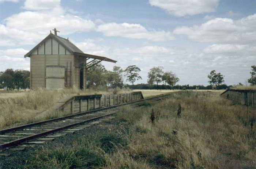
[[[94,64],[94,63],[92,63]],[[251,85],[256,85],[256,65],[251,66],[252,72],[251,78],[247,81]],[[180,80],[172,71],[163,72],[163,67],[153,67],[148,72],[147,84],[134,84],[135,81],[141,80],[139,75],[141,71],[136,65],[130,65],[125,69],[119,66],[114,66],[113,70],[109,71],[105,69],[101,63],[92,66],[87,71],[87,87],[105,87],[105,88],[123,88],[129,87],[131,89],[211,89],[213,85],[217,86],[217,89],[226,89],[231,86],[224,84],[224,76],[221,73],[217,73],[212,70],[208,74],[209,84],[203,85],[176,85]],[[128,81],[132,85],[125,84]],[[162,82],[162,84],[161,84]],[[241,84],[241,83],[239,83]],[[6,69],[4,72],[0,72],[0,88],[7,87],[9,90],[14,89],[27,89],[30,88],[30,72],[28,70],[13,70]]]

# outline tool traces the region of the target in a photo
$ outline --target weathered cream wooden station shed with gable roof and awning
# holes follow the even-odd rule
[[[30,88],[60,89],[76,86],[86,89],[86,73],[101,61],[117,61],[83,53],[68,39],[50,34],[24,57],[30,57]]]

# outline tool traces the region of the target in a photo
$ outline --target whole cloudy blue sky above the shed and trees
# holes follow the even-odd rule
[[[208,85],[211,70],[235,85],[256,65],[256,0],[0,0],[0,71],[30,69],[24,55],[53,28],[84,53]]]

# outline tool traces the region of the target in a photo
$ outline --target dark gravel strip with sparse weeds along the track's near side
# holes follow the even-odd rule
[[[86,124],[84,124],[86,125]],[[10,157],[0,156],[0,169],[24,169],[27,161],[33,159],[35,151],[42,148],[57,147],[60,145],[71,145],[78,138],[88,138],[93,135],[114,131],[117,134],[124,134],[127,132],[128,124],[119,121],[117,118],[106,120],[99,124],[86,127],[83,130],[68,133],[65,136],[57,137],[53,141],[46,141],[43,144],[35,145],[34,147],[26,147],[23,151],[4,150],[0,153],[10,154]],[[28,144],[26,144],[28,145]]]

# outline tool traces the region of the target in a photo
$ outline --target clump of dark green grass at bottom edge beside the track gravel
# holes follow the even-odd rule
[[[33,169],[94,168],[105,163],[104,153],[93,142],[83,140],[68,147],[44,149],[26,167]]]

